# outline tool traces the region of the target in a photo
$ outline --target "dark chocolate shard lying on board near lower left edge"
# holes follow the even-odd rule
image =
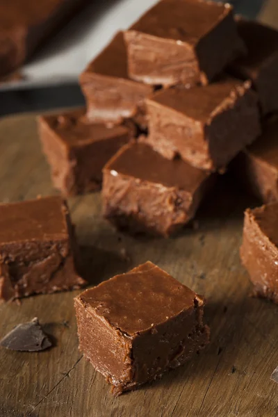
[[[22,323],[6,334],[0,345],[19,352],[39,352],[52,345],[48,336],[42,331],[38,318]]]

